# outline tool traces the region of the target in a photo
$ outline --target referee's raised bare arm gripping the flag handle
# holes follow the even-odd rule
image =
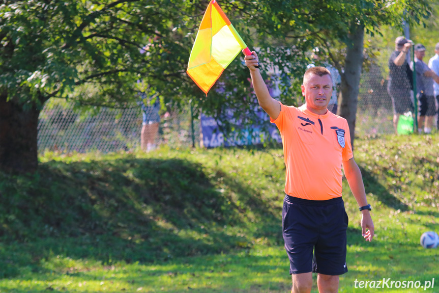
[[[280,113],[280,103],[270,96],[264,79],[260,75],[259,69],[255,67],[259,63],[256,52],[252,51],[251,53],[252,55],[246,56],[244,60],[247,67],[250,69],[251,81],[253,83],[257,101],[272,119],[276,119]]]

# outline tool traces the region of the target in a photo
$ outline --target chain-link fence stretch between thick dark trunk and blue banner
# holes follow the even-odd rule
[[[148,110],[147,110],[148,111]],[[133,150],[141,145],[143,136],[152,138],[155,146],[192,145],[190,109],[166,112],[159,127],[142,127],[140,106],[127,109],[76,109],[72,104],[48,104],[38,123],[38,149],[62,152],[113,152]],[[199,122],[194,122],[194,138],[199,138]],[[157,131],[157,132],[156,132]],[[146,150],[146,146],[145,146]]]

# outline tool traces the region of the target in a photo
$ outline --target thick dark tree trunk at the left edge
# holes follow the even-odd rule
[[[38,167],[38,116],[34,103],[7,101],[0,95],[0,170],[8,173],[34,172]]]

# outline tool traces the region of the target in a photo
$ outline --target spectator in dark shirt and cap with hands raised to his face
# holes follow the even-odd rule
[[[407,63],[408,49],[412,41],[404,37],[397,37],[395,40],[395,51],[389,58],[389,82],[387,91],[392,99],[393,105],[393,127],[395,134],[398,134],[397,127],[399,116],[408,111],[413,111],[411,96],[412,70]]]

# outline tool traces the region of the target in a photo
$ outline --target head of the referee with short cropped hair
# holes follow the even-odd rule
[[[331,76],[329,74],[318,76],[311,73],[302,85],[302,95],[311,109],[326,109],[332,95]]]

